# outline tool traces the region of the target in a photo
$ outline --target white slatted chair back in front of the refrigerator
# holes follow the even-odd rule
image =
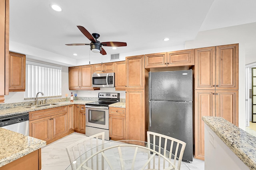
[[[168,156],[166,155],[166,150],[170,150],[170,152],[174,155],[173,164],[176,165],[176,159],[178,158],[177,169],[180,170],[183,153],[186,147],[185,142],[166,136],[166,135],[151,132],[151,131],[147,131],[147,139],[148,139],[148,143],[153,144],[153,145],[148,145],[148,147],[153,147],[151,149],[157,150],[158,152],[161,152],[161,151],[164,152],[162,153],[164,156]],[[156,146],[158,146],[158,148],[163,148],[164,150],[159,150],[158,148],[156,148]],[[171,156],[172,155],[170,154],[169,158],[171,158]]]

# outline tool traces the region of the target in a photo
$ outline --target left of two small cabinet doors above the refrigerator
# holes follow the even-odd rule
[[[145,55],[145,68],[166,67],[166,53],[156,53]]]

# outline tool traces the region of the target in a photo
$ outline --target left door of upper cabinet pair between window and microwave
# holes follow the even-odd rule
[[[68,67],[69,89],[80,89],[80,67]]]

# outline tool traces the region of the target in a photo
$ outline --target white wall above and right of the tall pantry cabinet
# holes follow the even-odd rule
[[[239,43],[239,127],[245,129],[245,65],[256,61],[252,47],[256,47],[256,23],[201,31],[186,41],[186,49]]]

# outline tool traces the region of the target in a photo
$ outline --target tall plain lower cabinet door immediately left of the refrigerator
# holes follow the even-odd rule
[[[144,90],[126,90],[127,139],[145,141]]]

